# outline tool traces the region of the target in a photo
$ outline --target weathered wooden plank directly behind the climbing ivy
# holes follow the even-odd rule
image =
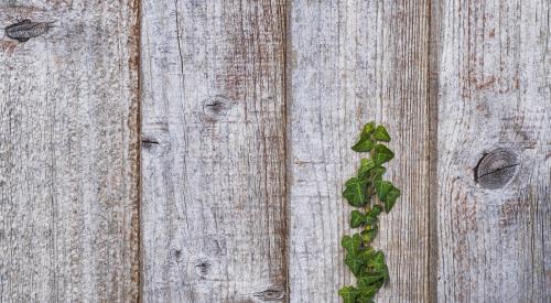
[[[349,234],[344,182],[363,125],[388,126],[397,159],[388,177],[403,196],[382,216],[377,247],[391,283],[378,302],[429,300],[426,1],[294,1],[290,68],[291,302],[339,302],[352,282],[341,238]]]

